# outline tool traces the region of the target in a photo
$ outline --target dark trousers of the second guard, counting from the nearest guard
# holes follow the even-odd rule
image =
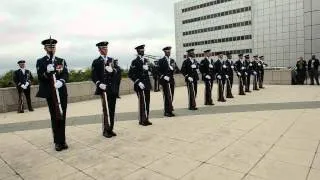
[[[103,109],[103,133],[108,133],[113,130],[114,126],[114,114],[117,102],[117,96],[115,94],[106,93],[108,107],[106,106],[106,99],[104,93],[101,94],[101,103]]]

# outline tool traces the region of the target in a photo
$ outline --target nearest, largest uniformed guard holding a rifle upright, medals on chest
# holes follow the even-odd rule
[[[47,100],[55,149],[61,151],[68,149],[65,124],[68,99],[66,82],[69,73],[66,61],[55,56],[56,44],[57,40],[51,38],[42,41],[47,55],[37,60],[39,92],[36,96]]]

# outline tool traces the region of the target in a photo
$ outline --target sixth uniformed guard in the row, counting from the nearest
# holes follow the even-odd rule
[[[214,67],[211,64],[211,50],[206,50],[204,52],[204,59],[200,62],[200,72],[202,74],[202,80],[205,85],[204,91],[204,105],[214,105],[212,101],[212,83],[214,76]]]

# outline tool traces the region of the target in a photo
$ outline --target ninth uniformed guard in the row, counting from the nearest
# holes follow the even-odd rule
[[[246,67],[244,65],[243,54],[239,54],[239,59],[235,62],[235,71],[239,78],[239,95],[246,95],[244,92],[244,82],[246,82]]]

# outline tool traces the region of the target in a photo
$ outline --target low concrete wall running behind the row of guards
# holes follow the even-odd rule
[[[152,83],[153,79],[150,78]],[[176,75],[176,86],[184,86],[184,77],[182,75]],[[234,77],[235,83],[237,83],[238,78]],[[291,84],[291,71],[289,70],[266,70],[265,71],[265,84]],[[90,99],[95,99],[94,96],[95,85],[92,82],[78,82],[69,83],[69,103],[86,101]],[[38,91],[38,86],[32,86],[31,89],[31,100],[34,107],[46,106],[45,99],[36,98],[36,92]],[[129,79],[123,79],[121,81],[120,94],[131,94],[134,93],[133,83]],[[18,102],[18,93],[16,88],[1,88],[0,89],[0,113],[16,111]],[[26,103],[25,103],[26,107]]]

